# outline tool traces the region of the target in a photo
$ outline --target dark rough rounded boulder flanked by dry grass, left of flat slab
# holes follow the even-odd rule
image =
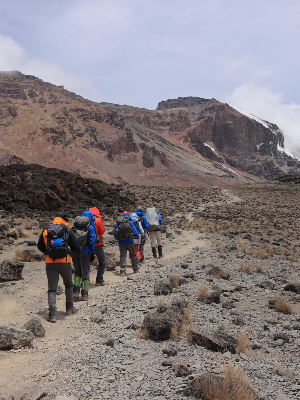
[[[182,322],[181,308],[178,306],[162,304],[156,312],[148,312],[142,323],[142,329],[148,331],[153,340],[168,340],[171,328]]]

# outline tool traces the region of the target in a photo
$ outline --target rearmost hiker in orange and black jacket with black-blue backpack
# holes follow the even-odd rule
[[[53,224],[43,230],[38,239],[38,250],[46,255],[46,274],[48,279],[48,321],[56,322],[56,290],[59,276],[62,277],[66,292],[66,315],[75,312],[73,307],[72,266],[68,246],[80,254],[81,247],[74,233],[68,228],[69,220],[65,212],[58,212]]]

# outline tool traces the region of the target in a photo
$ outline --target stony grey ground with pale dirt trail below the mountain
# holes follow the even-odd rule
[[[148,190],[140,187],[140,200]],[[140,273],[133,275],[128,262],[127,276],[120,277],[118,267],[107,271],[109,285],[103,287],[94,286],[92,268],[89,306],[76,302],[76,314],[65,316],[60,294],[57,323],[46,321],[42,261],[25,262],[19,280],[0,281],[0,324],[20,328],[38,316],[46,331],[29,346],[0,352],[4,398],[18,388],[49,400],[183,400],[194,376],[222,376],[225,363],[244,369],[258,399],[300,399],[300,208],[294,205],[299,204],[299,186],[168,188],[159,195],[156,206],[163,218],[166,214],[164,258],[151,257],[148,240]],[[9,215],[2,220],[21,223]],[[28,238],[2,245],[0,263],[14,258],[15,248],[29,248],[24,240],[37,241],[34,227],[23,230]],[[111,231],[107,216],[105,251],[114,262],[118,247]],[[290,306],[291,313],[272,308],[274,298]],[[153,340],[150,326],[149,337],[140,337],[147,318],[165,313],[171,318],[178,304],[188,310],[182,331],[174,334],[173,329],[167,340]],[[202,345],[191,343],[191,332],[192,338],[200,332],[206,337]],[[241,352],[230,338],[244,333],[248,342]],[[162,330],[155,334],[162,339]],[[231,351],[212,350],[220,350],[220,337]]]

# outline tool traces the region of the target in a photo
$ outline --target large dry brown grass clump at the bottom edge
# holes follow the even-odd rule
[[[234,368],[224,363],[224,378],[211,376],[195,379],[194,396],[206,400],[256,400],[250,380],[242,368]]]

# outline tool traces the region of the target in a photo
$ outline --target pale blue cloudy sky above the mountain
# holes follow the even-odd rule
[[[0,70],[97,102],[216,98],[300,150],[298,0],[0,0]]]

